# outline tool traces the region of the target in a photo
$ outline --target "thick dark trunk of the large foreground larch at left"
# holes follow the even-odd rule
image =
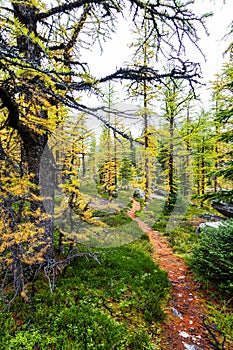
[[[30,34],[36,35],[37,30],[37,18],[36,18],[36,8],[33,6],[29,6],[28,4],[13,4],[13,8],[15,11],[15,17],[28,29]],[[17,45],[19,51],[24,55],[24,57],[28,60],[30,60],[32,63],[34,62],[35,65],[38,65],[40,63],[41,59],[41,51],[37,44],[32,42],[30,35],[24,36],[21,35],[17,38]],[[25,78],[27,79],[27,78]],[[34,92],[30,92],[30,90],[25,90],[23,92],[23,99],[25,102],[30,101],[33,98]],[[51,168],[48,167],[48,164],[46,164],[46,161],[43,161],[45,163],[44,165],[41,164],[42,156],[45,151],[47,141],[48,141],[48,134],[45,128],[42,126],[44,124],[44,120],[47,120],[48,114],[46,110],[44,110],[42,105],[37,106],[37,115],[36,117],[38,119],[41,119],[43,123],[40,125],[38,123],[37,125],[34,124],[34,128],[31,129],[30,126],[24,124],[20,120],[20,113],[19,113],[19,107],[17,107],[17,104],[15,100],[13,100],[14,97],[11,97],[11,105],[17,109],[17,113],[14,112],[10,113],[9,111],[9,117],[8,117],[8,125],[12,128],[18,130],[19,135],[22,139],[22,146],[21,146],[21,164],[22,164],[22,171],[26,171],[28,174],[30,174],[31,182],[35,184],[36,186],[31,189],[31,191],[38,196],[37,200],[34,200],[31,203],[32,211],[36,211],[37,209],[41,210],[41,213],[48,213],[49,215],[53,215],[53,190],[54,190],[54,180],[53,175],[51,172]],[[36,101],[36,100],[35,100]],[[38,102],[37,102],[38,103]],[[9,108],[8,108],[9,109]],[[43,158],[45,160],[45,158]],[[41,169],[42,166],[42,169]],[[40,172],[40,170],[42,170]],[[40,176],[41,175],[41,176]],[[41,177],[41,179],[40,179]],[[47,184],[47,190],[45,191],[46,195],[49,195],[50,199],[46,200],[45,203],[47,203],[47,208],[45,208],[45,203],[43,202],[43,199],[40,199],[39,196],[41,195],[39,184],[42,181],[43,184]],[[51,185],[51,189],[49,189],[49,186]],[[48,209],[48,202],[49,209]],[[46,211],[47,209],[47,211]],[[38,247],[38,249],[44,247],[46,245],[47,249],[44,253],[44,258],[46,260],[53,258],[53,218],[47,218],[47,219],[41,219],[36,223],[36,220],[34,217],[31,217],[32,222],[34,222],[36,225],[39,225],[40,227],[43,227],[45,229],[44,237],[42,238],[43,243],[41,243],[41,246]]]

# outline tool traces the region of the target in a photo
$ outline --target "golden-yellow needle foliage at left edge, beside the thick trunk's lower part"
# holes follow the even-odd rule
[[[36,186],[32,176],[21,178],[2,162],[0,170],[0,261],[2,266],[11,267],[16,258],[18,263],[34,264],[43,261],[48,246],[44,241],[45,227],[41,225],[48,215],[41,209],[32,211],[31,203],[40,201],[33,194]],[[48,243],[47,243],[48,244]],[[39,248],[39,249],[38,249]]]

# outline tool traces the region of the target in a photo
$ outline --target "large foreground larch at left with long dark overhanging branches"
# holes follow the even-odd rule
[[[180,55],[184,38],[196,45],[197,26],[203,25],[206,16],[196,16],[189,1],[128,0],[126,4],[108,0],[54,1],[51,5],[37,0],[0,1],[0,254],[5,276],[11,276],[7,280],[14,280],[15,295],[25,295],[27,281],[40,267],[47,273],[56,265],[54,164],[48,136],[64,121],[67,109],[99,119],[98,111],[83,105],[80,98],[87,91],[98,93],[100,84],[113,79],[156,84],[171,77],[186,79],[192,87],[198,80],[199,65]],[[103,77],[93,76],[92,67],[82,62],[83,50],[108,38],[118,16],[128,11],[132,23],[146,13],[151,23],[149,35],[156,38],[158,54],[172,57],[172,68],[159,71],[131,65]],[[48,163],[40,171],[45,151]],[[40,181],[51,184],[47,186],[50,216],[40,196]],[[30,236],[30,232],[34,233]]]

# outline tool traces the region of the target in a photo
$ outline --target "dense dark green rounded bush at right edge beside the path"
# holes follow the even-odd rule
[[[189,265],[201,281],[233,293],[233,220],[202,231]]]

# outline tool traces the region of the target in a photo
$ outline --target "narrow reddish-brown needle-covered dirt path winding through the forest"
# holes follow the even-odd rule
[[[208,314],[209,296],[201,295],[203,290],[200,290],[200,285],[192,278],[185,262],[174,254],[166,238],[135,216],[135,212],[139,209],[140,204],[134,200],[128,215],[149,236],[154,247],[152,257],[167,271],[171,286],[171,296],[166,309],[167,317],[162,324],[162,349],[224,349],[217,347],[217,344],[215,346],[216,340],[211,339],[203,323]]]

